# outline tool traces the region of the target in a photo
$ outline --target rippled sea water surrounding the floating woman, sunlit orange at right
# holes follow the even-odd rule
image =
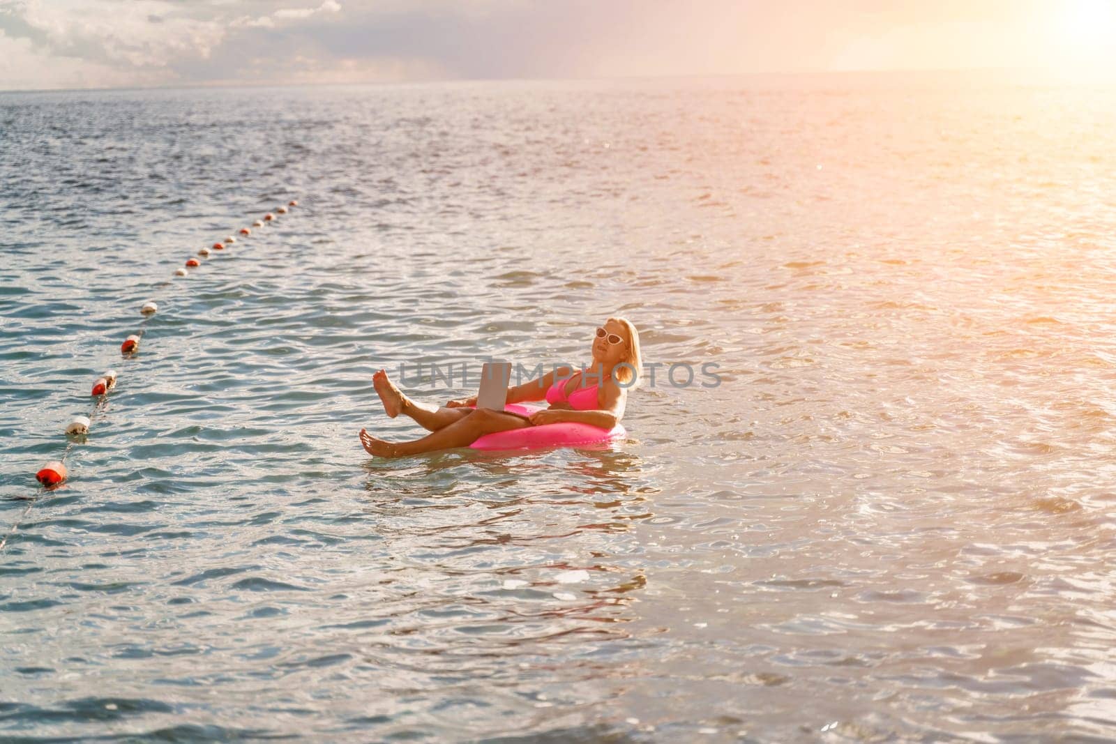
[[[965,75],[0,94],[0,738],[1116,738],[1114,120]],[[379,367],[610,315],[662,365],[627,441],[360,448],[422,433]]]

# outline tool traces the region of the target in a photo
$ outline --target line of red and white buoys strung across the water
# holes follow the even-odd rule
[[[276,209],[278,214],[287,214],[292,207],[298,206],[296,200],[290,200],[287,202],[286,206],[279,206]],[[278,220],[276,214],[268,212],[263,220],[256,220],[252,223],[253,228],[260,229],[264,224],[270,224]],[[241,228],[239,232],[241,240],[249,238],[252,231],[248,228]],[[234,235],[229,235],[223,240],[213,243],[212,248],[202,248],[198,251],[198,255],[203,259],[209,258],[213,251],[224,251],[231,248],[237,242]],[[176,277],[189,277],[189,269],[200,268],[202,262],[193,257],[186,259],[185,265],[175,269],[174,274]],[[166,287],[171,282],[162,282],[157,287]],[[138,328],[135,334],[129,335],[121,344],[121,355],[124,360],[127,361],[133,355],[140,351],[140,341],[143,340],[144,332],[146,331],[147,322],[153,316],[158,312],[158,305],[154,300],[144,302],[143,307],[140,308],[140,313],[143,316],[143,320],[140,322]],[[69,441],[66,443],[66,448],[62,450],[61,456],[58,460],[51,460],[42,465],[39,471],[35,474],[35,480],[39,482],[39,487],[36,489],[35,493],[27,496],[27,506],[23,511],[16,518],[8,532],[0,539],[0,553],[8,545],[8,541],[13,534],[19,530],[20,524],[27,519],[30,513],[31,508],[35,506],[36,502],[47,492],[54,491],[67,481],[68,473],[66,472],[66,457],[69,455],[70,451],[75,446],[83,444],[85,437],[89,434],[89,429],[93,427],[93,423],[97,419],[98,415],[102,414],[108,406],[108,395],[116,387],[117,374],[114,369],[106,370],[93,383],[93,388],[89,393],[93,397],[97,398],[93,406],[93,410],[89,412],[88,416],[75,416],[66,425],[65,432]]]

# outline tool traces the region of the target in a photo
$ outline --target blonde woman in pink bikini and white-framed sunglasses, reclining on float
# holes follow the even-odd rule
[[[518,414],[473,409],[477,398],[450,400],[442,407],[421,405],[403,395],[381,369],[372,380],[392,418],[405,414],[430,434],[412,442],[385,442],[360,429],[360,444],[368,454],[404,457],[435,450],[468,447],[479,437],[526,426],[579,422],[612,428],[624,417],[627,388],[635,387],[641,371],[639,334],[625,318],[609,318],[593,340],[593,363],[583,371],[558,367],[539,379],[508,388],[508,403],[546,400],[550,406],[530,418]],[[593,381],[593,385],[588,383]],[[620,387],[620,383],[625,387]]]

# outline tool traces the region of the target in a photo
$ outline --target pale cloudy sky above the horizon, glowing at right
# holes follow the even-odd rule
[[[1116,0],[0,0],[0,89],[1037,69]]]

